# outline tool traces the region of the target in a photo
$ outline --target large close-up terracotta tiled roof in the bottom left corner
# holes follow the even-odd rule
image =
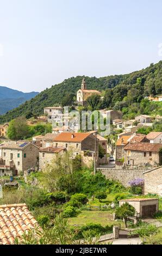
[[[0,245],[11,245],[24,231],[39,227],[26,204],[0,205]]]

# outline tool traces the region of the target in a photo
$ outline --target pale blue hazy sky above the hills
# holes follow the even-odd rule
[[[162,56],[161,0],[0,0],[0,86],[41,92]]]

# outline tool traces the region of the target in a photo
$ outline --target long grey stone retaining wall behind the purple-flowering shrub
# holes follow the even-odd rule
[[[117,180],[121,182],[121,184],[125,187],[129,186],[129,181],[134,180],[136,178],[144,179],[144,172],[146,170],[134,170],[134,169],[102,169],[97,168],[97,170],[101,170],[102,174],[106,176],[107,179]]]

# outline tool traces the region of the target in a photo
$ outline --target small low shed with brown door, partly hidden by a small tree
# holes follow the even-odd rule
[[[125,203],[132,205],[136,210],[135,216],[140,218],[153,217],[159,210],[158,198],[134,198],[119,201],[120,206]]]

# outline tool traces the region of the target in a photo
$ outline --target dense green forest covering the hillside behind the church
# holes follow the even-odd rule
[[[80,88],[83,76],[71,77],[60,84],[47,88],[33,99],[0,116],[0,123],[10,121],[18,116],[40,115],[43,108],[54,105],[71,105]],[[144,100],[145,96],[162,93],[162,61],[151,64],[148,68],[127,75],[107,77],[85,77],[88,89],[97,89],[103,93],[102,102],[96,108],[114,108],[123,112],[126,118],[135,113],[160,111],[162,106]]]

